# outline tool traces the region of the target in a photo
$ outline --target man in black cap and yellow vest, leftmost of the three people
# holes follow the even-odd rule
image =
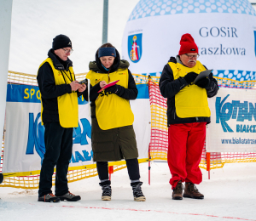
[[[39,66],[38,87],[41,93],[41,119],[44,123],[45,154],[41,167],[38,201],[79,201],[67,187],[67,169],[72,156],[73,127],[78,127],[78,96],[88,95],[85,84],[75,80],[73,63],[68,56],[72,42],[65,35],[53,39],[48,58]],[[55,195],[52,175],[55,173]]]

